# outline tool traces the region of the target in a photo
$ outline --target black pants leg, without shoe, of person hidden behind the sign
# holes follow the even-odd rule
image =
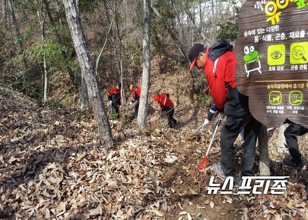
[[[307,128],[295,123],[291,123],[284,130],[284,137],[287,145],[286,147],[292,156],[292,161],[296,164],[302,163],[296,136],[304,135],[307,132]]]

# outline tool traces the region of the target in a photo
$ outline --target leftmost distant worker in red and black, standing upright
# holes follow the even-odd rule
[[[107,94],[109,106],[110,106],[110,112],[112,114],[112,117],[120,118],[119,111],[122,110],[121,107],[121,87],[122,84],[118,83],[116,87],[113,87],[109,90]]]

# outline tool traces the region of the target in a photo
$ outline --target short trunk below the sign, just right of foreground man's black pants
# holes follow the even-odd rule
[[[259,157],[260,157],[260,176],[269,176],[269,157],[268,157],[268,145],[267,145],[267,129],[265,125],[261,125],[259,133]]]

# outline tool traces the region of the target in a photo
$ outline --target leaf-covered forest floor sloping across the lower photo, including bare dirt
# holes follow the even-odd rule
[[[295,170],[282,165],[288,152],[277,150],[279,129],[268,132],[271,176],[290,176],[284,194],[239,194],[236,187],[208,193],[211,176],[222,185],[211,170],[220,158],[221,127],[206,172],[199,172],[217,118],[187,138],[206,116],[185,93],[191,80],[161,75],[151,88],[170,93],[177,128],[167,128],[164,114],[157,120],[159,106],[151,101],[147,127],[138,128],[128,107],[126,121],[110,120],[111,149],[99,144],[91,109],[46,110],[0,87],[0,219],[308,219],[307,135],[298,138],[305,165]],[[240,138],[234,147],[238,173]],[[257,151],[256,176],[258,157]]]

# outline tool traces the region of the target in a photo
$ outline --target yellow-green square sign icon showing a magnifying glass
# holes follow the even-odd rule
[[[308,57],[308,43],[293,43],[290,46],[290,63],[291,64],[306,64]]]

